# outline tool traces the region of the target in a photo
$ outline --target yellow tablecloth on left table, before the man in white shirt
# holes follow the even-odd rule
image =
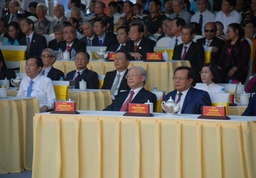
[[[0,99],[0,174],[32,169],[32,119],[38,112],[36,99]]]

